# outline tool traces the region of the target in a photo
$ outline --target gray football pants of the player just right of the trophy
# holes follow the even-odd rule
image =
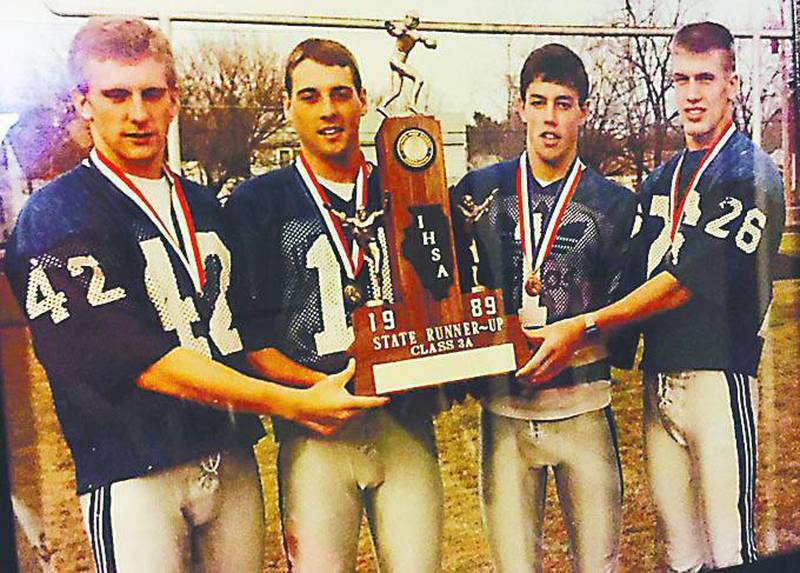
[[[622,480],[610,407],[554,421],[483,411],[481,493],[498,573],[542,571],[547,471],[555,475],[572,568],[616,571]]]

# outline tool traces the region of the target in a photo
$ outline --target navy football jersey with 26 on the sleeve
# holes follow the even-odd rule
[[[686,153],[684,193],[704,151]],[[734,133],[689,192],[670,240],[669,193],[681,154],[642,185],[636,237],[639,281],[671,273],[692,293],[684,306],[644,324],[642,367],[732,370],[754,375],[759,329],[772,296],[771,268],[783,232],[783,185],[769,157]]]

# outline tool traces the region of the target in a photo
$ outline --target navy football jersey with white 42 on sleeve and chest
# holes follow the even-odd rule
[[[221,210],[207,189],[181,181],[202,292],[147,215],[89,164],[35,193],[8,243],[8,278],[52,387],[78,493],[263,435],[256,416],[136,385],[179,346],[229,365],[242,357]]]

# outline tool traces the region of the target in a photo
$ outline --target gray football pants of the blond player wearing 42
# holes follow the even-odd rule
[[[100,487],[80,504],[98,573],[263,568],[264,502],[250,447]]]

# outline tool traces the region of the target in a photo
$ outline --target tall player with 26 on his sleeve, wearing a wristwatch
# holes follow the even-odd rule
[[[591,331],[641,325],[645,452],[659,530],[671,570],[698,571],[756,558],[754,376],[784,206],[775,166],[733,126],[730,32],[689,24],[671,50],[686,149],[640,194],[643,284],[533,333],[541,346],[519,374],[547,380]]]

